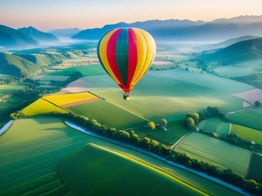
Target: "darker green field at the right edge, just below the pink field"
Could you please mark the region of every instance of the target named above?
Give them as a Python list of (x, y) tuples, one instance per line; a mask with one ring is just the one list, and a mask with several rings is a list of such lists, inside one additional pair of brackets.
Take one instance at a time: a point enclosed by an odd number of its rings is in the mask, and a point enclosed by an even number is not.
[(230, 123), (240, 124), (248, 126), (256, 130), (262, 131), (262, 113), (247, 109), (244, 111), (228, 114), (228, 120)]

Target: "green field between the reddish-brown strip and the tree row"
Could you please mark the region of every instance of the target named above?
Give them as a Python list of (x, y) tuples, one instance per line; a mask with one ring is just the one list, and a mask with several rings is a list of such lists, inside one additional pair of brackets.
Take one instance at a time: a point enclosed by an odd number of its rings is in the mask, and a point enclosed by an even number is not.
[(107, 101), (94, 101), (68, 107), (74, 113), (96, 119), (97, 122), (116, 129), (146, 125), (147, 121)]

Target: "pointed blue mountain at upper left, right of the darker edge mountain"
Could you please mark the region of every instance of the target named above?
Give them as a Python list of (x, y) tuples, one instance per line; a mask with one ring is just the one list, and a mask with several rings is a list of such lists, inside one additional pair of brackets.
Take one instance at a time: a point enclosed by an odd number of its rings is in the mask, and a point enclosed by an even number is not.
[(34, 27), (23, 27), (23, 28), (18, 28), (18, 31), (21, 31), (25, 34), (27, 34), (29, 37), (39, 41), (39, 42), (53, 42), (53, 41), (59, 41), (56, 36), (50, 34), (50, 33), (44, 33), (42, 31), (37, 30)]

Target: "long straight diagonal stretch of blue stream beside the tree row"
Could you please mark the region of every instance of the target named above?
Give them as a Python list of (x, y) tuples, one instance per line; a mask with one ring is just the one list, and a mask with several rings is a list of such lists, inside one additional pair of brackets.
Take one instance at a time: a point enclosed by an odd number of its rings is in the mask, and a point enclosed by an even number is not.
[(127, 147), (129, 147), (129, 148), (133, 148), (133, 149), (135, 149), (135, 150), (138, 150), (138, 151), (140, 151), (140, 152), (144, 152), (144, 153), (150, 154), (151, 156), (156, 157), (156, 158), (158, 158), (158, 159), (161, 159), (161, 160), (163, 160), (163, 161), (165, 161), (165, 162), (167, 162), (167, 163), (169, 163), (169, 164), (171, 164), (171, 165), (174, 165), (174, 166), (177, 166), (177, 167), (179, 167), (179, 168), (182, 168), (182, 169), (188, 170), (188, 171), (190, 171), (190, 172), (193, 172), (194, 174), (197, 174), (197, 175), (199, 175), (199, 176), (202, 176), (202, 177), (204, 177), (204, 178), (207, 178), (207, 179), (209, 179), (209, 180), (212, 180), (212, 181), (214, 181), (214, 182), (217, 182), (217, 183), (219, 183), (219, 184), (221, 184), (221, 185), (223, 185), (223, 186), (226, 186), (226, 187), (228, 187), (228, 188), (231, 188), (231, 189), (233, 189), (234, 191), (237, 191), (237, 192), (239, 192), (239, 193), (242, 193), (243, 195), (253, 196), (252, 194), (243, 191), (241, 188), (235, 187), (235, 186), (233, 186), (233, 185), (231, 185), (231, 184), (229, 184), (229, 183), (227, 183), (227, 182), (224, 182), (224, 181), (222, 181), (222, 180), (220, 180), (220, 179), (218, 179), (218, 178), (209, 176), (209, 175), (207, 175), (207, 174), (205, 174), (205, 173), (203, 173), (203, 172), (196, 171), (196, 170), (194, 170), (194, 169), (187, 168), (187, 167), (185, 167), (184, 165), (180, 165), (180, 164), (171, 162), (171, 161), (169, 161), (169, 160), (166, 160), (164, 157), (161, 157), (161, 156), (159, 156), (159, 155), (157, 155), (157, 154), (155, 154), (155, 153), (146, 151), (146, 150), (143, 149), (143, 148), (139, 148), (139, 147), (133, 146), (133, 145), (131, 145), (131, 144), (129, 144), (129, 143), (125, 143), (125, 142), (122, 142), (122, 141), (114, 140), (114, 139), (111, 139), (111, 138), (108, 138), (108, 137), (104, 137), (104, 136), (102, 136), (102, 135), (96, 134), (95, 132), (92, 132), (92, 131), (89, 131), (89, 130), (87, 130), (87, 129), (84, 129), (84, 128), (78, 126), (78, 125), (75, 125), (75, 124), (73, 124), (73, 123), (69, 123), (68, 121), (65, 121), (65, 123), (66, 123), (68, 126), (74, 128), (74, 129), (77, 129), (77, 130), (79, 130), (79, 131), (82, 131), (82, 132), (84, 132), (84, 133), (86, 133), (86, 134), (89, 134), (89, 135), (92, 135), (92, 136), (95, 136), (95, 137), (99, 137), (99, 138), (101, 138), (101, 139), (105, 139), (105, 140), (108, 140), (108, 141), (111, 141), (111, 142), (114, 142), (114, 143), (118, 143), (118, 144), (120, 144), (120, 145), (127, 146)]

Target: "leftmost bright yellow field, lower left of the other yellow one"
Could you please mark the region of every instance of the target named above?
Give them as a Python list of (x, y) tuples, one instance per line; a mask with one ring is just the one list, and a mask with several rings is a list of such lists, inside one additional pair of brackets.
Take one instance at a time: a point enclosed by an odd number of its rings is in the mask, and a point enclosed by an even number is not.
[(49, 103), (46, 100), (38, 99), (34, 103), (31, 103), (29, 106), (25, 107), (22, 112), (26, 116), (33, 116), (39, 114), (45, 114), (50, 112), (60, 112), (60, 113), (68, 113), (66, 110), (59, 108), (52, 103)]

